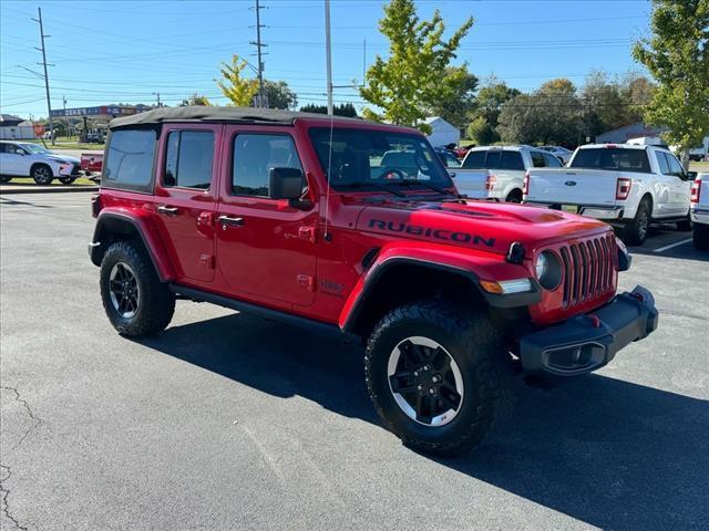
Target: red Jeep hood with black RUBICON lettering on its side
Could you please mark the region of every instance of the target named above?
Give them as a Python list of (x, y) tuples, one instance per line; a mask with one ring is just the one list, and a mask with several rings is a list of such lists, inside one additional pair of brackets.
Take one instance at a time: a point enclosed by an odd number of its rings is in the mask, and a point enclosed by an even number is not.
[(501, 254), (515, 241), (531, 253), (554, 240), (609, 230), (606, 223), (559, 210), (490, 201), (369, 206), (357, 229)]

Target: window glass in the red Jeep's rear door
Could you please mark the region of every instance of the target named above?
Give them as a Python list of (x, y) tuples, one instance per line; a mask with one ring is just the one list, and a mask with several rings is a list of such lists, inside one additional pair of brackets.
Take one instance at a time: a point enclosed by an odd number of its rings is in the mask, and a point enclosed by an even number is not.
[(172, 131), (167, 137), (163, 185), (206, 190), (212, 184), (213, 162), (213, 132)]

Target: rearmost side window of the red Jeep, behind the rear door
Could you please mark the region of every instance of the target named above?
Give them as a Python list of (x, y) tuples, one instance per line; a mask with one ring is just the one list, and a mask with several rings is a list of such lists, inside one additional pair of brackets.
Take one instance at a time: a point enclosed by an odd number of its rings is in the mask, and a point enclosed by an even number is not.
[(150, 190), (156, 135), (151, 129), (114, 131), (109, 144), (103, 185)]

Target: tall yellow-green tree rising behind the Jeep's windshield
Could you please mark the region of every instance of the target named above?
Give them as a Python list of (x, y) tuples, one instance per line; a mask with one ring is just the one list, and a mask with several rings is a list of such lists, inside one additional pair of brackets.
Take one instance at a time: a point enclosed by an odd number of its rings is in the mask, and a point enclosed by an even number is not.
[(413, 0), (391, 0), (384, 6), (379, 31), (389, 40), (389, 56), (377, 55), (360, 88), (361, 96), (381, 112), (366, 107), (364, 117), (428, 133), (423, 119), (431, 106), (460, 86), (460, 71), (446, 67), (472, 25), (471, 17), (444, 41), (445, 25), (438, 10), (428, 21), (419, 19)]

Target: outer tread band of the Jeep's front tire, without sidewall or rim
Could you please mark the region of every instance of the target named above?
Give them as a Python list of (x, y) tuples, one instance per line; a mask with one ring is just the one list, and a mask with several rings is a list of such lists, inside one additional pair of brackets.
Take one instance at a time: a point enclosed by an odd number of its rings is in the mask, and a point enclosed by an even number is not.
[[(480, 383), (480, 396), (482, 397), (476, 408), (476, 420), (456, 440), (439, 444), (402, 437), (402, 441), (414, 449), (443, 457), (459, 456), (474, 449), (485, 435), (497, 425), (499, 420), (506, 417), (513, 404), (512, 365), (501, 356), (505, 348), (497, 332), (484, 315), (445, 300), (436, 299), (405, 304), (384, 315), (367, 342), (364, 372), (369, 396), (379, 417), (389, 430), (393, 430), (393, 427), (380, 405), (370, 377), (372, 352), (382, 333), (401, 320), (421, 320), (433, 323), (455, 335), (460, 344), (465, 345), (470, 352), (476, 350), (480, 353), (477, 363), (467, 368), (474, 372), (475, 381)], [(481, 345), (484, 347), (481, 348)]]

